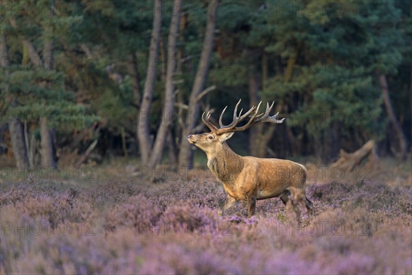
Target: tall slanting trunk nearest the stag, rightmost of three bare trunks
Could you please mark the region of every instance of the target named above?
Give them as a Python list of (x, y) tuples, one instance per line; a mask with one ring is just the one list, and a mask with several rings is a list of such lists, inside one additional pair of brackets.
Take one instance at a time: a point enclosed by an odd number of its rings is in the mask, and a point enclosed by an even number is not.
[(201, 53), (201, 61), (203, 63), (199, 63), (198, 69), (196, 72), (196, 77), (194, 78), (194, 84), (192, 87), (192, 91), (190, 93), (189, 99), (189, 109), (187, 111), (187, 118), (186, 124), (183, 126), (182, 135), (181, 135), (181, 144), (180, 144), (180, 151), (179, 151), (179, 165), (181, 167), (190, 167), (189, 164), (192, 162), (190, 161), (190, 144), (187, 142), (187, 135), (189, 135), (194, 127), (196, 126), (196, 122), (198, 121), (198, 112), (199, 112), (199, 104), (198, 104), (198, 95), (201, 94), (203, 91), (207, 72), (209, 70), (209, 61), (211, 51), (213, 50), (213, 40), (214, 40), (214, 31), (216, 28), (216, 13), (218, 8), (218, 0), (211, 0), (209, 2), (209, 6), (207, 7), (207, 23), (206, 23), (206, 30), (205, 30), (205, 39), (203, 40), (203, 49)]

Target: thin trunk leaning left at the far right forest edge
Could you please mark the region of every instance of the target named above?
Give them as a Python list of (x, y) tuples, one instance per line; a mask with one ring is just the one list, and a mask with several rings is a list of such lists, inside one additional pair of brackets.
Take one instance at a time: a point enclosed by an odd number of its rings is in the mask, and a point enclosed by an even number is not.
[(393, 124), (393, 128), (395, 129), (396, 136), (398, 137), (399, 148), (400, 148), (400, 158), (405, 160), (407, 158), (407, 140), (404, 136), (402, 131), (402, 127), (400, 126), (398, 119), (396, 118), (395, 111), (393, 111), (391, 98), (389, 97), (389, 88), (387, 84), (387, 79), (385, 74), (379, 75), (379, 84), (380, 89), (382, 89), (383, 101), (385, 102), (385, 107), (387, 113), (389, 115), (389, 120)]

